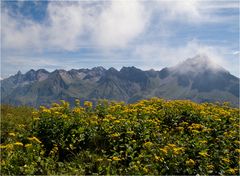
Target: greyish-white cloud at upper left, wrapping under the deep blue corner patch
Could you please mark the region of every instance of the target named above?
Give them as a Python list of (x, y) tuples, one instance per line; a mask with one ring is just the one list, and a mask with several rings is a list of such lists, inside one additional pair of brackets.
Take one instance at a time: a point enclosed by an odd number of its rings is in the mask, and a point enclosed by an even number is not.
[(78, 4), (52, 2), (43, 23), (21, 15), (12, 17), (3, 10), (2, 26), (4, 48), (74, 50), (83, 30), (82, 10)]

